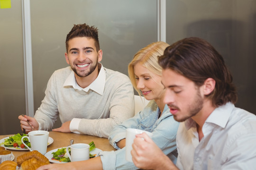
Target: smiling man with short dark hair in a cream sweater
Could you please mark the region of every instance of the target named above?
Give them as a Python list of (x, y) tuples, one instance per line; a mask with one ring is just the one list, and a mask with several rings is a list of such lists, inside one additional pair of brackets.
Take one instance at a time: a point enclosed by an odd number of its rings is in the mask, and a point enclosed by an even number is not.
[(21, 128), (52, 129), (59, 115), (60, 132), (108, 137), (112, 128), (134, 115), (134, 92), (128, 76), (104, 68), (98, 29), (74, 25), (66, 36), (66, 62), (70, 67), (51, 76), (46, 96), (34, 118), (19, 116)]

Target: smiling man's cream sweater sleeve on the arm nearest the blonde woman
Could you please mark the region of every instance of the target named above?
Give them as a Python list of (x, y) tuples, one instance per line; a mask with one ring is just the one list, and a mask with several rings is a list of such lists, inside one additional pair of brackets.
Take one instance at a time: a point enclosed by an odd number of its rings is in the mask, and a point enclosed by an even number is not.
[(79, 132), (92, 136), (109, 137), (115, 125), (134, 115), (133, 86), (127, 76), (117, 76), (106, 81), (105, 90), (110, 90), (110, 116), (106, 119), (81, 119)]

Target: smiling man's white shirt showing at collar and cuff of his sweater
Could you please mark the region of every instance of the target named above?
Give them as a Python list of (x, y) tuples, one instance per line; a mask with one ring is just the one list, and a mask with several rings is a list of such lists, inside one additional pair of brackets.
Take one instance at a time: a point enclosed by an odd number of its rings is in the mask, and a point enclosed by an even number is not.
[[(100, 69), (100, 72), (99, 72), (99, 75), (97, 76), (97, 78), (89, 86), (87, 86), (85, 88), (82, 88), (77, 84), (74, 74), (75, 73), (73, 71), (70, 73), (70, 75), (67, 77), (63, 86), (71, 85), (71, 86), (73, 86), (74, 89), (77, 89), (77, 90), (83, 90), (85, 92), (88, 92), (91, 89), (94, 92), (99, 93), (100, 95), (103, 94), (104, 87), (105, 87), (105, 80), (106, 80), (106, 71), (102, 65), (101, 65), (101, 69)], [(81, 121), (81, 119), (79, 119), (79, 118), (73, 118), (71, 120), (71, 123), (69, 126), (71, 132), (78, 133), (78, 134), (80, 133), (80, 132), (78, 132), (78, 127), (79, 127), (80, 121)]]

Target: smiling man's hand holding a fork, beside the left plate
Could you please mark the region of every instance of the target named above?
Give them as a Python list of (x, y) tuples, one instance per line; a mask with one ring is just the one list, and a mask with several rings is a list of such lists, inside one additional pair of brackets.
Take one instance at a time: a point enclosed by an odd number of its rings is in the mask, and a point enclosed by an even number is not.
[(27, 121), (34, 128), (34, 130), (38, 130), (39, 128), (39, 124), (35, 118), (29, 117), (27, 115), (24, 115), (24, 117), (19, 115), (18, 119), (20, 119), (21, 130), (23, 130), (23, 128), (26, 129), (26, 133), (32, 131), (32, 128), (27, 124)]

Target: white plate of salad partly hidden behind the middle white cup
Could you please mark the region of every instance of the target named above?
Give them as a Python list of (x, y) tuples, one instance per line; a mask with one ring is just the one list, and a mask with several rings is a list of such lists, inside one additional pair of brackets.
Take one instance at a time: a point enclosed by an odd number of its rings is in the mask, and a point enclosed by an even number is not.
[[(95, 147), (94, 142), (90, 144), (90, 158), (94, 158), (99, 155), (101, 149)], [(70, 151), (70, 148), (69, 148)], [(67, 163), (70, 162), (69, 157), (66, 154), (66, 147), (57, 148), (51, 150), (45, 154), (46, 158), (52, 163)]]

